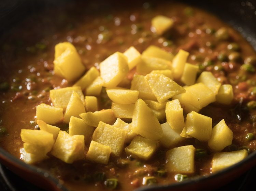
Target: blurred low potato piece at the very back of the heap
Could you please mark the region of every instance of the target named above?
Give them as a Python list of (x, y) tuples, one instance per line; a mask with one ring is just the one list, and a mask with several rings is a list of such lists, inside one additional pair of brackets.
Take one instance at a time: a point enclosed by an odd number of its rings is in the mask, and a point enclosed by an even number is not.
[(142, 52), (142, 56), (162, 58), (169, 61), (172, 61), (174, 57), (173, 54), (154, 45), (147, 47), (146, 50)]

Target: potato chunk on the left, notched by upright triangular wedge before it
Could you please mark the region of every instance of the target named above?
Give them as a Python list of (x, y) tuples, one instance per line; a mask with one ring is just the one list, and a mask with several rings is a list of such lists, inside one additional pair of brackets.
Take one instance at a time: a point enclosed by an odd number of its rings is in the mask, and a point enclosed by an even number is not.
[(55, 107), (61, 107), (63, 109), (66, 109), (73, 91), (79, 95), (82, 102), (84, 103), (84, 94), (81, 90), (81, 87), (77, 86), (50, 90), (50, 98), (53, 102), (53, 105)]

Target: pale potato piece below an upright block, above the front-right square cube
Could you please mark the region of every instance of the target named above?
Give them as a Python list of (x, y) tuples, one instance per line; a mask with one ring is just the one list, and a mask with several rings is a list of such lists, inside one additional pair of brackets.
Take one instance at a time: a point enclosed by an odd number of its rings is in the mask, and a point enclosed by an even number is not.
[(159, 142), (162, 146), (169, 148), (184, 140), (180, 133), (172, 129), (167, 122), (161, 124), (161, 127), (163, 129), (163, 136), (159, 139)]

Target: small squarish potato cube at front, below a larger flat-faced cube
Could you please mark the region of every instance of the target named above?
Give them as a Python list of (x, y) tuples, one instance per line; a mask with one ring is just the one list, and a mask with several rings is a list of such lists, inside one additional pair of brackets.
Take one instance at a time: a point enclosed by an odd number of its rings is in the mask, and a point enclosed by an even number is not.
[(100, 164), (108, 164), (110, 153), (110, 146), (91, 141), (86, 159)]

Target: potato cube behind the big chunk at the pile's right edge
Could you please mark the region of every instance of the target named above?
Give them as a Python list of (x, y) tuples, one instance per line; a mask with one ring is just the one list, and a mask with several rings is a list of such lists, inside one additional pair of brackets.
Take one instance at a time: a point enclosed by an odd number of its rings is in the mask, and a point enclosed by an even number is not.
[(216, 77), (214, 77), (212, 72), (202, 72), (197, 79), (197, 83), (200, 82), (207, 86), (210, 90), (212, 90), (215, 95), (218, 94), (221, 83), (216, 79)]

